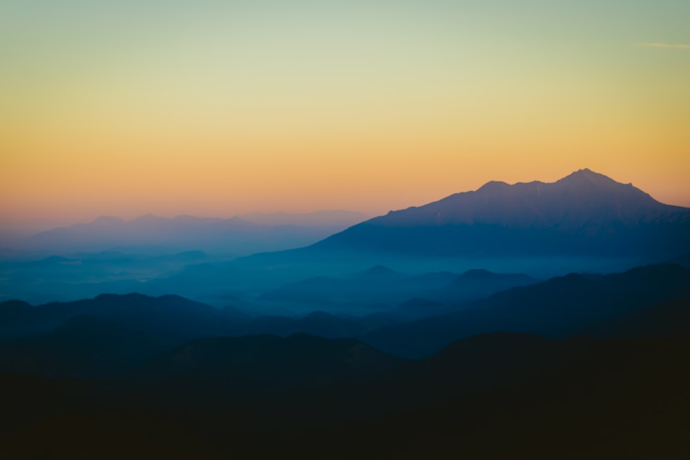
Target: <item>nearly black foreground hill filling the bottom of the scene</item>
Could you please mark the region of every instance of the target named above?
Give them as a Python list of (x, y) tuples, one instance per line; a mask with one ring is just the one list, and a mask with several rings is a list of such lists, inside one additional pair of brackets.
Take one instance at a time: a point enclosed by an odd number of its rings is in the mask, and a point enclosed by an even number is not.
[[(319, 339), (259, 336), (244, 349), (235, 343), (229, 350), (223, 350), (228, 343), (217, 343), (192, 366), (144, 383), (0, 374), (0, 450), (5, 458), (27, 459), (690, 454), (687, 336), (484, 334), (421, 361), (381, 359), (382, 373), (358, 369), (362, 357), (352, 359), (353, 346), (385, 357), (361, 343), (322, 342), (315, 351), (301, 341)], [(281, 342), (287, 361), (273, 345)], [(180, 358), (188, 363), (184, 350), (169, 354), (164, 367)], [(247, 364), (242, 356), (251, 350), (262, 350), (263, 357), (253, 372), (231, 372)], [(315, 352), (320, 359), (313, 361)], [(267, 376), (270, 390), (253, 386)], [(295, 386), (295, 379), (310, 384)]]

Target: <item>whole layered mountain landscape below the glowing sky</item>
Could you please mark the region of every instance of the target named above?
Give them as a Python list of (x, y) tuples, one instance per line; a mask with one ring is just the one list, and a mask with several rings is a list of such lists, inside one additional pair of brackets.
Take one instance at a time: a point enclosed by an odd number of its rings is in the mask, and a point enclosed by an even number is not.
[(337, 216), (37, 235), (86, 252), (0, 261), (0, 457), (689, 458), (689, 213), (580, 170), (239, 259)]

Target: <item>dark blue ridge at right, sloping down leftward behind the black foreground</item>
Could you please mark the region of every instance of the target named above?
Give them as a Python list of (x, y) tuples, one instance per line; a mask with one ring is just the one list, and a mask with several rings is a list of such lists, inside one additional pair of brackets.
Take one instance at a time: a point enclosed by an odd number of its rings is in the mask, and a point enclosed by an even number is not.
[(424, 357), (482, 332), (562, 337), (598, 321), (682, 299), (690, 299), (690, 270), (682, 266), (647, 266), (596, 278), (569, 274), (498, 292), (457, 312), (381, 328), (362, 339), (385, 352)]

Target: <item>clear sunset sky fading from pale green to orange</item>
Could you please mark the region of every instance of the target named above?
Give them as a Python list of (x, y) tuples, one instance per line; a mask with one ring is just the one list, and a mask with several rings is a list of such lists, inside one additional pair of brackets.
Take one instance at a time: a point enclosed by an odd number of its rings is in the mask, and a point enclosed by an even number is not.
[(690, 206), (687, 0), (0, 0), (0, 221), (347, 209), (580, 168)]

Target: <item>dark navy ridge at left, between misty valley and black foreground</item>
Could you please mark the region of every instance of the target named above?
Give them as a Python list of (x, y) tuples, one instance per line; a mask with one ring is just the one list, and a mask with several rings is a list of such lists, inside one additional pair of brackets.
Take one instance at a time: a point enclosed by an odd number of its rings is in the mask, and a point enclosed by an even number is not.
[(250, 318), (230, 306), (216, 309), (172, 295), (101, 294), (35, 307), (6, 301), (0, 303), (0, 372), (108, 377), (194, 339), (295, 333), (344, 338), (393, 323), (325, 312)]

